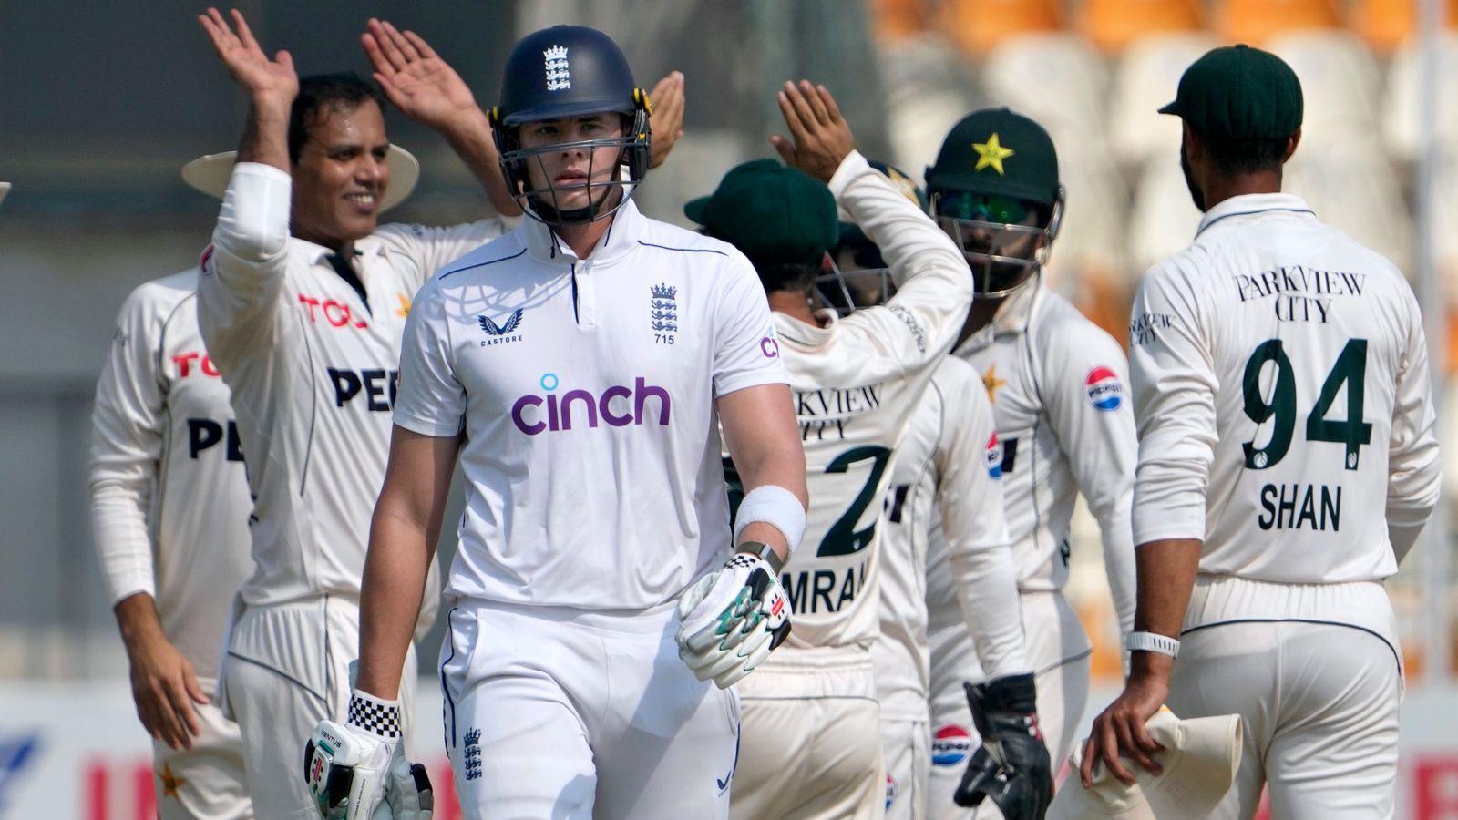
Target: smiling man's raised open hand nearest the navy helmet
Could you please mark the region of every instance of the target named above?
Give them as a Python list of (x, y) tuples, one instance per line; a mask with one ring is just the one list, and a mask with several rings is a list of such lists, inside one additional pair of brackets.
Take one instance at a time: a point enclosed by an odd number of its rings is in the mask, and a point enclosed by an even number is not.
[(480, 115), (465, 80), (420, 35), (375, 18), (366, 28), (360, 44), (375, 67), (375, 80), (395, 108), (436, 130)]

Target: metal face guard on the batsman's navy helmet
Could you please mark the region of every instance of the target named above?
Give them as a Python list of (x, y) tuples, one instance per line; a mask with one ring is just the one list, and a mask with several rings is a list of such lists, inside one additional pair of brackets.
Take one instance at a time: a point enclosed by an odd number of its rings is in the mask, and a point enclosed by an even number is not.
[[(628, 201), (637, 184), (643, 181), (650, 158), (647, 95), (642, 89), (633, 90), (634, 96), (642, 101), (642, 105), (631, 114), (623, 115), (624, 134), (618, 137), (521, 147), (522, 125), (503, 125), (493, 111), (491, 133), (502, 158), (502, 175), (506, 179), (507, 191), (522, 204), (522, 210), (528, 216), (554, 228), (582, 225), (612, 216)], [(615, 149), (617, 153), (609, 160), (612, 163), (609, 177), (599, 179), (598, 150), (604, 147)], [(580, 185), (554, 184), (545, 172), (542, 156), (576, 150), (588, 153), (588, 179)], [(529, 172), (532, 163), (541, 171), (541, 177), (545, 179), (544, 187), (532, 185)], [(564, 194), (582, 188), (588, 191), (586, 206), (576, 209), (560, 207)], [(609, 200), (614, 200), (614, 190), (620, 191), (621, 196), (608, 206)]]

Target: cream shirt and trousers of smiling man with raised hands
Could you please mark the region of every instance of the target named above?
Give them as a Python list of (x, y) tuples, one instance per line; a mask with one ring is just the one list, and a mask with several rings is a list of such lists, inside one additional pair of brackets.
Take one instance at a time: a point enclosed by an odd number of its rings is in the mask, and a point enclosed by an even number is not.
[(405, 315), (433, 271), (500, 222), (382, 226), (354, 244), (366, 301), (327, 248), (289, 235), (290, 191), (280, 169), (233, 168), (203, 254), (198, 322), (232, 388), (255, 499), (257, 568), (230, 633), (225, 705), (243, 730), (258, 814), (303, 819), (316, 808), (297, 776), (299, 750), (318, 721), (344, 718), (346, 670), (359, 652)]

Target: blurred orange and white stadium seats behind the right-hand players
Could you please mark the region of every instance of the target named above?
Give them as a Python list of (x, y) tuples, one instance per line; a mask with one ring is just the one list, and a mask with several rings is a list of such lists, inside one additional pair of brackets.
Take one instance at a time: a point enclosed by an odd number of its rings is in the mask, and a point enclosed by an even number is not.
[[(1446, 293), (1436, 309), (1449, 330), (1430, 344), (1446, 346), (1439, 398), (1458, 398), (1458, 1), (1438, 1), (1445, 23), (1436, 36), (1439, 102), (1430, 112), (1438, 152), (1426, 181), (1435, 197), (1430, 260)], [(1126, 347), (1139, 277), (1184, 248), (1201, 216), (1180, 168), (1181, 121), (1156, 109), (1174, 99), (1184, 69), (1217, 45), (1258, 45), (1295, 69), (1305, 123), (1284, 188), (1394, 260), (1416, 286), (1424, 181), (1420, 3), (870, 0), (869, 9), (894, 162), (920, 177), (972, 108), (1007, 105), (1042, 123), (1067, 188), (1048, 282)], [(1452, 489), (1458, 426), (1443, 423), (1442, 432), (1454, 433), (1441, 435)], [(1112, 680), (1120, 674), (1117, 626), (1098, 528), (1082, 506), (1075, 535), (1069, 597), (1095, 638), (1095, 674)], [(1423, 557), (1411, 556), (1389, 582), (1410, 678), (1423, 677), (1433, 629)]]

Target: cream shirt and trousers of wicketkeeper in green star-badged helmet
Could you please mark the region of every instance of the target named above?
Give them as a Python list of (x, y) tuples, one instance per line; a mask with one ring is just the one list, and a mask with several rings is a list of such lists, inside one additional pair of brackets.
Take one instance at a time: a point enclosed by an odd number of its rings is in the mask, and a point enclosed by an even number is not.
[[(1137, 445), (1124, 353), (1034, 279), (1007, 296), (956, 355), (977, 368), (993, 403), (1028, 662), (1038, 676), (1038, 722), (1048, 753), (1063, 760), (1089, 689), (1088, 633), (1063, 597), (1077, 493), (1099, 522), (1120, 624), (1127, 630), (1134, 622), (1128, 506)], [(986, 677), (940, 560), (936, 552), (927, 560), (936, 791), (961, 778), (964, 738), (977, 743), (962, 683)], [(951, 801), (933, 810), (942, 817), (971, 816)]]

